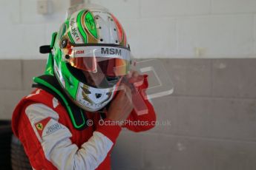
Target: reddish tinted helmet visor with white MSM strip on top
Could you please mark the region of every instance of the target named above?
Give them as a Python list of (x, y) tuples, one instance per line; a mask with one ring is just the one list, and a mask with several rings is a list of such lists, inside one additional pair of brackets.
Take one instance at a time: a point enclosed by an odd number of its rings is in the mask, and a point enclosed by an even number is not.
[(128, 73), (131, 54), (130, 50), (124, 47), (71, 46), (70, 50), (65, 52), (65, 61), (77, 69), (117, 77)]

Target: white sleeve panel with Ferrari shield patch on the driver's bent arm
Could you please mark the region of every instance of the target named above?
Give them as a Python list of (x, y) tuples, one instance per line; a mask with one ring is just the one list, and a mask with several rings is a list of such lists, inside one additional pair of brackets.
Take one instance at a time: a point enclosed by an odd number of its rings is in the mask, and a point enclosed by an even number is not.
[[(59, 115), (42, 103), (25, 109), (45, 157), (57, 169), (96, 169), (114, 143), (100, 132), (93, 132), (88, 142), (79, 149), (70, 140), (69, 129), (59, 123)], [(41, 130), (41, 131), (40, 131)]]

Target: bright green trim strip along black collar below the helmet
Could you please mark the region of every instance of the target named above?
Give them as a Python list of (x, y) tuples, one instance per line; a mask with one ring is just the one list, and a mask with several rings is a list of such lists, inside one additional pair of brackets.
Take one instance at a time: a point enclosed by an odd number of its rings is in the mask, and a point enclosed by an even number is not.
[[(82, 123), (81, 125), (77, 125), (77, 124), (76, 124), (76, 120), (75, 120), (75, 118), (73, 118), (73, 114), (72, 114), (72, 111), (71, 111), (70, 106), (69, 106), (69, 104), (68, 104), (68, 101), (67, 101), (67, 100), (65, 99), (65, 97), (62, 95), (62, 93), (59, 92), (58, 89), (56, 89), (54, 86), (52, 86), (52, 85), (50, 85), (49, 83), (47, 83), (47, 81), (42, 80), (41, 78), (35, 77), (35, 78), (33, 78), (33, 81), (34, 81), (35, 83), (43, 84), (43, 85), (49, 87), (49, 88), (52, 89), (54, 92), (56, 92), (56, 94), (58, 94), (60, 98), (62, 98), (62, 101), (65, 103), (65, 106), (67, 106), (68, 114), (70, 115), (70, 118), (71, 118), (71, 121), (72, 121), (72, 123), (73, 123), (73, 126), (75, 126), (77, 129), (79, 129), (79, 128), (81, 128), (82, 126), (85, 125), (85, 118), (84, 118), (84, 115), (83, 115), (83, 114), (81, 114), (81, 115), (82, 115), (83, 123)], [(80, 110), (80, 111), (81, 111), (81, 110)]]

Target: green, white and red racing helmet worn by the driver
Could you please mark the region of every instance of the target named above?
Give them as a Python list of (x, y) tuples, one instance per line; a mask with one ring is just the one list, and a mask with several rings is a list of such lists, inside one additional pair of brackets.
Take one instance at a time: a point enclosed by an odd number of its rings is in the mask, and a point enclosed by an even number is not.
[[(104, 7), (71, 7), (53, 45), (53, 70), (68, 97), (82, 109), (95, 112), (116, 93), (131, 64), (130, 47), (122, 25)], [(89, 84), (90, 75), (104, 75)], [(95, 77), (94, 77), (95, 78)]]

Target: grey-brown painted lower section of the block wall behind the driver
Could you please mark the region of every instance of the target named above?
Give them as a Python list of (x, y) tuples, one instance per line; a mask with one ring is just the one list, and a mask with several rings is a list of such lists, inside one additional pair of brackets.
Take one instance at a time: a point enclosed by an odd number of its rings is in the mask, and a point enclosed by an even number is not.
[[(256, 169), (256, 59), (163, 59), (174, 94), (154, 99), (157, 126), (123, 130), (114, 169)], [(30, 92), (45, 61), (0, 62), (0, 118)]]

